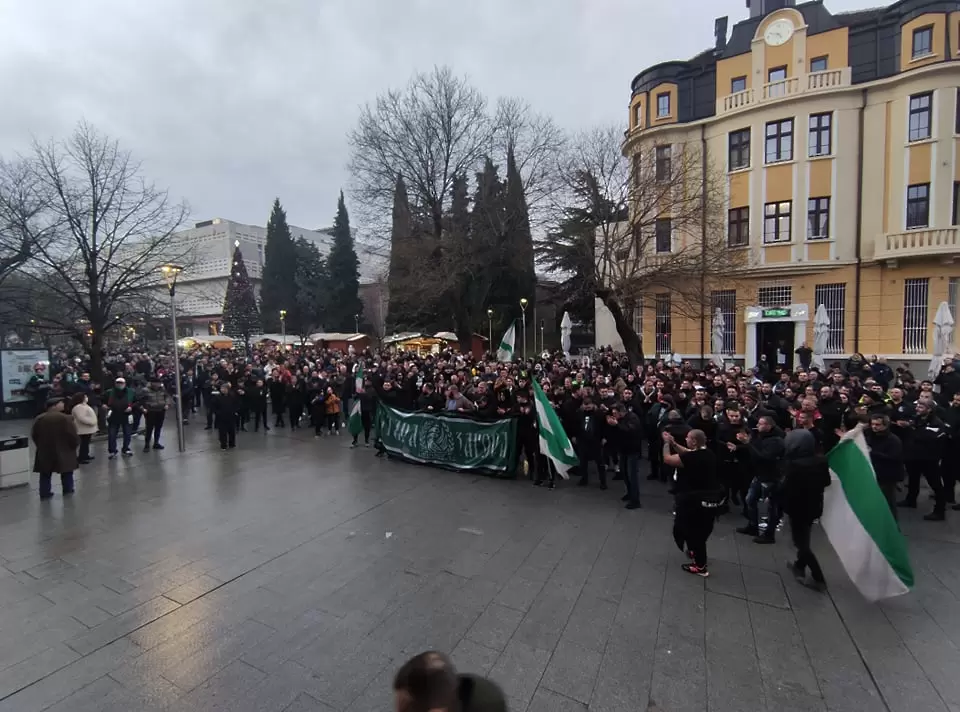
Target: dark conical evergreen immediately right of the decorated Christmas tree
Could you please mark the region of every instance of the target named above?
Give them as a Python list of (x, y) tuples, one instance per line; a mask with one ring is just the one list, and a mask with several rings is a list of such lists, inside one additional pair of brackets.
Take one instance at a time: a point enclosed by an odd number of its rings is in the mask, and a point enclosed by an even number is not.
[(277, 198), (273, 201), (273, 210), (267, 223), (263, 282), (260, 285), (260, 312), (265, 332), (279, 332), (280, 311), (294, 308), (297, 298), (296, 270), (297, 248), (287, 225), (287, 213)]

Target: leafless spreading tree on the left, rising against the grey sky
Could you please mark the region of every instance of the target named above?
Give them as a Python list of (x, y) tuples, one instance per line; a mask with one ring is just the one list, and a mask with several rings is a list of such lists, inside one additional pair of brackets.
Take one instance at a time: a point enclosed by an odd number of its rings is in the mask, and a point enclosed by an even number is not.
[[(99, 374), (106, 332), (143, 313), (144, 294), (157, 291), (163, 264), (192, 262), (189, 247), (171, 253), (187, 208), (86, 123), (65, 141), (35, 143), (26, 162), (29, 198), (39, 208), (24, 228), (35, 247), (22, 270), (21, 308), (39, 326), (81, 342)], [(38, 309), (36, 294), (52, 295), (59, 308)]]

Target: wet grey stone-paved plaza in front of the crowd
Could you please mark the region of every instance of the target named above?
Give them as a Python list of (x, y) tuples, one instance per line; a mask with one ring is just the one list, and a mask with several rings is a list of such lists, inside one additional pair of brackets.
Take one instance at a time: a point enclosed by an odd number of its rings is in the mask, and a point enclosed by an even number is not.
[[(5, 427), (9, 432), (9, 426)], [(241, 433), (108, 462), (72, 499), (0, 493), (0, 712), (388, 712), (426, 648), (511, 710), (960, 710), (960, 514), (909, 512), (917, 590), (830, 595), (787, 540), (724, 518), (689, 576), (658, 484), (608, 492), (379, 460), (349, 439)], [(58, 489), (58, 488), (57, 488)]]

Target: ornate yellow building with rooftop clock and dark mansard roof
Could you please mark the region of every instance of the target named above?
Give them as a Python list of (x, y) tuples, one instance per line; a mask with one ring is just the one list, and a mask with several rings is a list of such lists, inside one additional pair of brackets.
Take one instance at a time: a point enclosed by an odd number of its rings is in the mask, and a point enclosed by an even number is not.
[[(934, 313), (956, 315), (960, 289), (960, 5), (747, 5), (729, 41), (720, 18), (713, 49), (637, 75), (624, 143), (632, 156), (697, 142), (725, 173), (727, 244), (748, 253), (750, 279), (716, 290), (706, 321), (721, 310), (729, 358), (774, 361), (779, 347), (792, 363), (823, 304), (828, 362), (929, 362)], [(648, 354), (710, 354), (709, 323), (666, 294), (643, 305)], [(596, 327), (598, 345), (618, 342), (599, 303)]]

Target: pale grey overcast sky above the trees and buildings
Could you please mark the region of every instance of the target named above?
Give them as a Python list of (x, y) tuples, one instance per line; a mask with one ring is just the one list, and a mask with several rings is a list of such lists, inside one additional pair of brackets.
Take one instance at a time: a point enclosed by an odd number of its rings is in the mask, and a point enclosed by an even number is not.
[[(872, 3), (874, 5), (877, 2)], [(358, 107), (447, 64), (566, 129), (626, 122), (630, 80), (744, 0), (0, 0), (0, 152), (85, 118), (192, 219), (332, 223)], [(834, 11), (870, 0), (827, 0)], [(349, 200), (349, 195), (348, 195)], [(349, 207), (349, 205), (348, 205)]]

